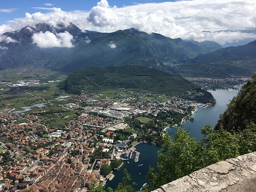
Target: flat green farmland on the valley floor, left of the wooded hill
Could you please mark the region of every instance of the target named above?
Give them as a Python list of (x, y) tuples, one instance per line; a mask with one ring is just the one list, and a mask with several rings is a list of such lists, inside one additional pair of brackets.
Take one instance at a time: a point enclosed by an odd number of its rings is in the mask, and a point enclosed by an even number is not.
[[(21, 70), (22, 71), (22, 70)], [(57, 100), (63, 93), (57, 88), (58, 81), (67, 75), (49, 71), (18, 73), (16, 70), (0, 71), (0, 110), (13, 109), (23, 111), (24, 108), (45, 103), (45, 105), (63, 105), (66, 102)], [(12, 87), (7, 82), (35, 80), (40, 84), (32, 86)], [(71, 95), (73, 96), (73, 95)]]

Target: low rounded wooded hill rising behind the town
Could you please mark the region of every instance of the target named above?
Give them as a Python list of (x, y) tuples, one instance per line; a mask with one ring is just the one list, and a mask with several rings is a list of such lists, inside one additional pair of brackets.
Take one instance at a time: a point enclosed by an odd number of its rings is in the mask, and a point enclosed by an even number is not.
[(211, 93), (185, 78), (138, 65), (89, 67), (70, 73), (67, 80), (60, 84), (60, 89), (75, 94), (119, 88), (214, 103)]

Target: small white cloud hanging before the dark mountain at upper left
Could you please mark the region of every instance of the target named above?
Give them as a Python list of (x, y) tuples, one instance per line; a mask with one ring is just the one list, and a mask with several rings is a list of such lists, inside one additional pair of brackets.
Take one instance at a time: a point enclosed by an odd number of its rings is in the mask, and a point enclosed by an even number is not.
[(56, 35), (51, 32), (35, 33), (32, 36), (33, 43), (36, 43), (40, 48), (72, 48), (73, 36), (68, 33), (57, 33)]

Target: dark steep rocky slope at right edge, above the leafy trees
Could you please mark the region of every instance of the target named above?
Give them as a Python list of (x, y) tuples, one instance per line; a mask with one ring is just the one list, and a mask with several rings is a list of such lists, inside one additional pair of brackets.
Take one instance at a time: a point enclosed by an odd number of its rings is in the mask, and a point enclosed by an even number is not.
[(256, 123), (256, 80), (248, 81), (221, 115), (215, 129), (227, 131), (243, 130), (251, 122)]

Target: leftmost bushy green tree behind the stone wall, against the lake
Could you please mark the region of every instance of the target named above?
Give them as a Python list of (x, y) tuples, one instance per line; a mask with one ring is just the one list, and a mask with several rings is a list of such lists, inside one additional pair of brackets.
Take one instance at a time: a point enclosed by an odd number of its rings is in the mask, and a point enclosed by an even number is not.
[(151, 189), (190, 174), (198, 168), (198, 150), (200, 148), (188, 131), (179, 129), (175, 139), (164, 134), (162, 149), (158, 154), (157, 168), (149, 168), (147, 179)]

